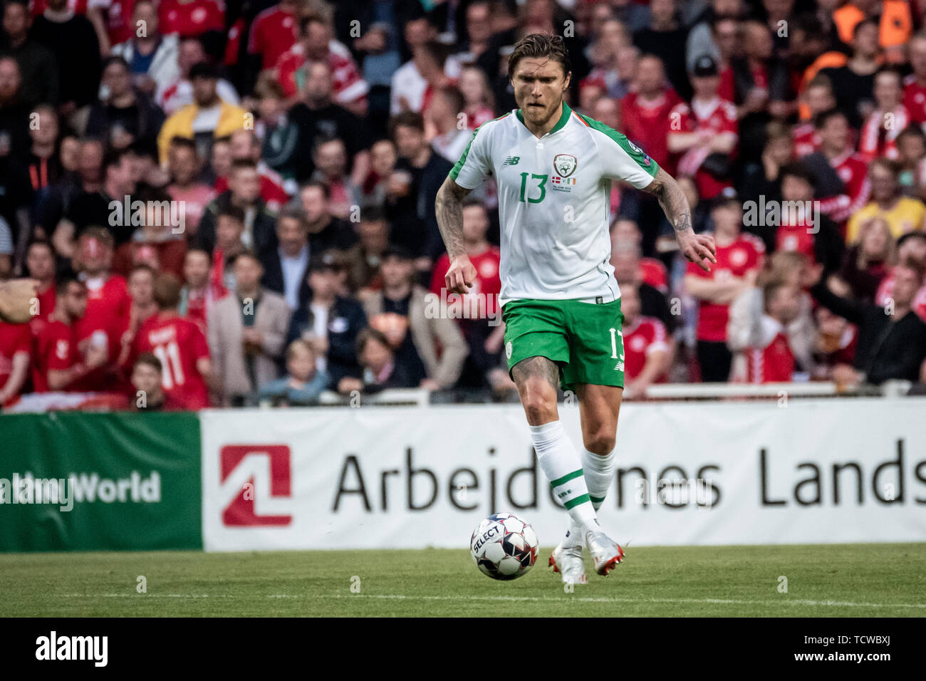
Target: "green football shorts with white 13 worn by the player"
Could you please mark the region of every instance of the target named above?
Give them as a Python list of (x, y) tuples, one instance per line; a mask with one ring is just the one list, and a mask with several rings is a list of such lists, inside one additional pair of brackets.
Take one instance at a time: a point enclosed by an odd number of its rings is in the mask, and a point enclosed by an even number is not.
[(521, 359), (557, 362), (563, 390), (576, 384), (624, 386), (620, 300), (512, 300), (502, 309), (508, 374)]

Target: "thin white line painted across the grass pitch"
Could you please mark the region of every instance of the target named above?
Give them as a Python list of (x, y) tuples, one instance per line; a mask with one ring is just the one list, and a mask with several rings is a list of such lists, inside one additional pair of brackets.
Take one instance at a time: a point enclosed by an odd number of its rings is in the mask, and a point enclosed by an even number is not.
[[(231, 594), (59, 594), (61, 598), (109, 598), (109, 599), (241, 599), (247, 596)], [(740, 599), (621, 599), (607, 597), (569, 596), (409, 596), (407, 594), (255, 594), (250, 598), (267, 599), (381, 599), (381, 600), (489, 600), (508, 602), (567, 602), (574, 603), (686, 603), (694, 605), (809, 605), (828, 608), (914, 608), (926, 609), (926, 603), (854, 603), (842, 600), (740, 600)]]

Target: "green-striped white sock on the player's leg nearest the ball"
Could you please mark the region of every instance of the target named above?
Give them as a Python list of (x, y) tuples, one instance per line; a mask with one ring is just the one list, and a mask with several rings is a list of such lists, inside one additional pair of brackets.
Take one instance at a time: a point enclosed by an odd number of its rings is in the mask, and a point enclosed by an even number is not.
[(540, 467), (553, 487), (554, 496), (569, 511), (569, 518), (583, 528), (582, 536), (585, 528), (597, 530), (598, 521), (585, 486), (581, 460), (562, 422), (532, 425), (531, 438)]

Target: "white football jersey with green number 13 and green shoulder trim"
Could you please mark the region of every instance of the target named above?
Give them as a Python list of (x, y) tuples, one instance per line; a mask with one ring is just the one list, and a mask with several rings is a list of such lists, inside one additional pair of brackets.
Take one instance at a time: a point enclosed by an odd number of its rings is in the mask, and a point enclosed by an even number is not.
[(511, 300), (611, 302), (620, 297), (611, 258), (610, 188), (653, 181), (652, 158), (604, 123), (563, 102), (556, 126), (537, 138), (520, 109), (482, 124), (450, 177), (475, 189), (498, 184), (501, 305)]

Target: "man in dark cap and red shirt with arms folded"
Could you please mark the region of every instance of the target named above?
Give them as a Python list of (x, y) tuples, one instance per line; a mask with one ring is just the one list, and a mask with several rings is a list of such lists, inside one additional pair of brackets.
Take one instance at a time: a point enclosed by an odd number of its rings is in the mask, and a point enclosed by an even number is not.
[(718, 95), (720, 77), (714, 59), (698, 57), (691, 76), (691, 104), (679, 104), (669, 113), (669, 151), (679, 155), (679, 173), (694, 177), (701, 198), (711, 199), (732, 186), (730, 166), (739, 125), (736, 107)]

